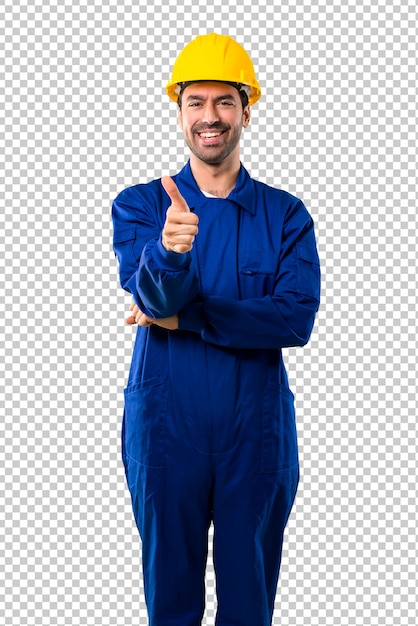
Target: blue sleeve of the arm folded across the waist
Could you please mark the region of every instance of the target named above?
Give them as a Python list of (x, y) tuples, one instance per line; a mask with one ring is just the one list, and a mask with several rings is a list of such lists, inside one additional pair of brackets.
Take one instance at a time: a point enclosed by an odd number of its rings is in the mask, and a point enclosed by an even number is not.
[(273, 293), (234, 300), (208, 297), (180, 313), (180, 329), (227, 348), (285, 348), (305, 345), (320, 300), (320, 267), (314, 224), (302, 202), (283, 226)]

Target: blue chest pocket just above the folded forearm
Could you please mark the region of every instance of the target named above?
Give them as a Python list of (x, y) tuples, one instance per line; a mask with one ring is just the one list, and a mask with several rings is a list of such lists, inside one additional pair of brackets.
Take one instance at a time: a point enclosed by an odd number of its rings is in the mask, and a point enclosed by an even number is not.
[(263, 298), (274, 290), (277, 266), (274, 256), (268, 257), (265, 250), (248, 251), (239, 262), (239, 282), (241, 299)]

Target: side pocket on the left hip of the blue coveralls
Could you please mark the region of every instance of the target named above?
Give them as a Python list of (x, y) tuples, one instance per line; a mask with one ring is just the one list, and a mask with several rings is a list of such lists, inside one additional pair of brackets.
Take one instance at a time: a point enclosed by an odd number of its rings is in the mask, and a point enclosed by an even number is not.
[(166, 417), (167, 387), (161, 378), (129, 385), (125, 389), (125, 457), (146, 467), (164, 467)]

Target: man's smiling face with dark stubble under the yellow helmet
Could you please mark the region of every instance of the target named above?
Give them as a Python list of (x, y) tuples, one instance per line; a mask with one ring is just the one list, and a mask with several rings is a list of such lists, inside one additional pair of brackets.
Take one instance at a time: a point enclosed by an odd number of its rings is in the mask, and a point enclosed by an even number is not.
[(250, 107), (243, 109), (235, 87), (192, 83), (184, 89), (181, 103), (178, 121), (194, 157), (211, 165), (239, 160), (239, 140), (250, 122)]

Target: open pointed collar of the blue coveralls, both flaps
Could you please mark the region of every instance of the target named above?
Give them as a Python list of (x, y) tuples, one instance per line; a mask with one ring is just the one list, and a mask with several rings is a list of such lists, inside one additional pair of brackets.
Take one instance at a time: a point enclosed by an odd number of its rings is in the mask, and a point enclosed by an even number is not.
[[(184, 192), (189, 203), (197, 205), (202, 199), (206, 199), (200, 191), (192, 174), (190, 161), (186, 163), (182, 170), (175, 176), (176, 184), (180, 192)], [(221, 199), (221, 198), (220, 198)], [(255, 189), (254, 181), (241, 163), (237, 183), (229, 196), (225, 198), (230, 202), (238, 204), (249, 213), (255, 213)]]

